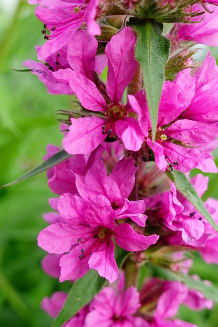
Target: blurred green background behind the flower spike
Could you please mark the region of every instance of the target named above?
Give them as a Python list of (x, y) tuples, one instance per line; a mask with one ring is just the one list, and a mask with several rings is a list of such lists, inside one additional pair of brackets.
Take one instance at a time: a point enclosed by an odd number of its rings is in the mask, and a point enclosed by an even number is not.
[[(43, 44), (42, 25), (26, 0), (0, 1), (0, 185), (39, 165), (48, 143), (61, 145), (55, 112), (69, 107), (68, 97), (51, 96), (36, 76), (12, 71), (24, 69), (24, 60), (36, 60), (35, 45)], [(205, 198), (217, 197), (217, 176), (209, 175)], [(50, 326), (41, 299), (69, 289), (67, 282), (59, 284), (40, 267), (44, 251), (37, 247), (37, 236), (46, 226), (41, 216), (51, 210), (51, 196), (45, 173), (0, 190), (1, 327)], [(218, 286), (215, 265), (206, 265), (197, 255), (194, 269)], [(182, 307), (180, 318), (216, 327), (218, 306), (194, 313)]]

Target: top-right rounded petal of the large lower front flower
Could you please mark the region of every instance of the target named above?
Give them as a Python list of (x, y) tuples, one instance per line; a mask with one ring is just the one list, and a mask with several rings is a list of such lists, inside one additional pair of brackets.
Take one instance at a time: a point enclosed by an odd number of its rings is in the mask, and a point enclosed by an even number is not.
[(115, 226), (114, 211), (104, 195), (98, 195), (90, 202), (85, 219), (91, 227), (104, 226), (112, 229)]

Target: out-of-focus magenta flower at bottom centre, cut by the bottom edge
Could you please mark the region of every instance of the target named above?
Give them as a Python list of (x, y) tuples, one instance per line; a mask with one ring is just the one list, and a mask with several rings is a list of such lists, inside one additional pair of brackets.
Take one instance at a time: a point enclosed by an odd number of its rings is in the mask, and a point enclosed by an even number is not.
[(149, 327), (150, 324), (134, 316), (140, 308), (139, 293), (133, 286), (118, 295), (105, 287), (91, 302), (92, 309), (85, 318), (86, 327)]

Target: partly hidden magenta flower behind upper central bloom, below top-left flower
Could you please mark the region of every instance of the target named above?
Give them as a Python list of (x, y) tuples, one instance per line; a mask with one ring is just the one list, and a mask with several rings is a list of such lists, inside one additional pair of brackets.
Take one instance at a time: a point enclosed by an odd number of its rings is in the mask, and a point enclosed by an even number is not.
[[(98, 41), (95, 37), (88, 35), (87, 31), (77, 31), (67, 45), (45, 59), (49, 66), (32, 60), (24, 61), (23, 65), (31, 69), (33, 74), (38, 75), (49, 93), (71, 95), (74, 91), (69, 84), (57, 81), (52, 72), (61, 70), (62, 75), (65, 76), (64, 69), (71, 68), (93, 80), (94, 71), (101, 74), (107, 65), (105, 54), (95, 56), (97, 48)], [(39, 53), (41, 46), (36, 46), (36, 50)]]

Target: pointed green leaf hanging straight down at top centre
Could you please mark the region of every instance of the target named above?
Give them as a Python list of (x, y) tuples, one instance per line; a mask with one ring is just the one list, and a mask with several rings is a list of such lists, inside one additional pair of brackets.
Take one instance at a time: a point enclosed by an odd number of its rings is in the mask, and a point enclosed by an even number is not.
[(171, 42), (161, 35), (163, 24), (156, 21), (140, 21), (131, 18), (128, 25), (138, 34), (135, 57), (142, 68), (152, 123), (152, 141), (154, 142), (158, 107), (165, 80), (164, 67), (168, 60)]

